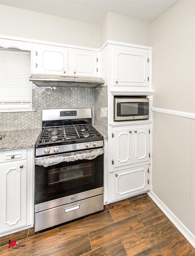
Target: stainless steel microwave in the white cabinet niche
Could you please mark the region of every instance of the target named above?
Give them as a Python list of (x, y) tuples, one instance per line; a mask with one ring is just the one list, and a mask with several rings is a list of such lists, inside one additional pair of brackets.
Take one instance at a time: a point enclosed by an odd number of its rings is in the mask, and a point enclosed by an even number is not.
[(149, 118), (149, 99), (114, 98), (114, 121)]

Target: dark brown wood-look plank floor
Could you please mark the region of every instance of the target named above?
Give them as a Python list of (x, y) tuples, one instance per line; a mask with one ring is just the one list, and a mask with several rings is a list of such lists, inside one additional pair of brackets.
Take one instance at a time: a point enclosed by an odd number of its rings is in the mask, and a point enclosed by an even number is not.
[[(9, 240), (25, 247), (9, 249)], [(35, 233), (31, 228), (3, 236), (1, 246), (1, 256), (195, 255), (195, 249), (146, 193), (47, 231)]]

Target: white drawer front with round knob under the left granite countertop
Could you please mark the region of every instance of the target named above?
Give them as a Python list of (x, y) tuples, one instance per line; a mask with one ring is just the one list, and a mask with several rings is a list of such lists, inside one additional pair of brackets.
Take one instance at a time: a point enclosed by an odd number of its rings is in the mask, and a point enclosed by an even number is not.
[(5, 151), (0, 153), (0, 163), (27, 159), (27, 149)]

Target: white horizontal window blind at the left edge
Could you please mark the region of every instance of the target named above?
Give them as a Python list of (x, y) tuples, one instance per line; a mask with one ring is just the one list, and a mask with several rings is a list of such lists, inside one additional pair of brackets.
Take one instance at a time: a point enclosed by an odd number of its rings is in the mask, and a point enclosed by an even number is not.
[(30, 51), (0, 48), (0, 110), (31, 110)]

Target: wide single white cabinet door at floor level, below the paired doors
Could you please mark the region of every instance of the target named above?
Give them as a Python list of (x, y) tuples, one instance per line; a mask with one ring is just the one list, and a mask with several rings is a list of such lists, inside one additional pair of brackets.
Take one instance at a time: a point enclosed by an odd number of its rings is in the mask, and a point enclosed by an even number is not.
[(113, 172), (112, 200), (148, 190), (148, 166), (141, 165)]

